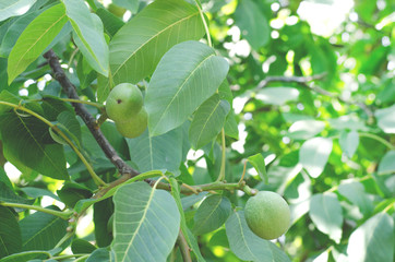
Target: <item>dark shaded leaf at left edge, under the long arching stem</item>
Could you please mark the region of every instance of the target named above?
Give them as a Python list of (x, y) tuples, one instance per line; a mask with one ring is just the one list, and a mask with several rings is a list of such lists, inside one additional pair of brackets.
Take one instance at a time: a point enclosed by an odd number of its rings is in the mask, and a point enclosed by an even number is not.
[(35, 117), (15, 112), (0, 119), (5, 158), (15, 166), (27, 166), (44, 176), (69, 180), (63, 146), (53, 144), (48, 127)]

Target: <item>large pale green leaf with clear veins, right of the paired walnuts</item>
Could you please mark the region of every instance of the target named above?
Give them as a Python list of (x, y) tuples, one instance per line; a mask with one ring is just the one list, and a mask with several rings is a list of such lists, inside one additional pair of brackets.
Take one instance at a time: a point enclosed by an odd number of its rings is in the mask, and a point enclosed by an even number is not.
[(228, 62), (200, 41), (172, 47), (158, 63), (145, 96), (151, 135), (181, 126), (224, 81)]

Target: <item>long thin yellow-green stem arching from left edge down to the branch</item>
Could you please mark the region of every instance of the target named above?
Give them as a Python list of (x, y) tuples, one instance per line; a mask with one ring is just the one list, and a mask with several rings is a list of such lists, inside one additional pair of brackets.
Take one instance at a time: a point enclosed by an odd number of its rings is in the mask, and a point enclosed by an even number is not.
[(13, 107), (16, 110), (22, 110), (25, 111), (29, 115), (32, 115), (33, 117), (41, 120), (44, 123), (46, 123), (49, 128), (53, 129), (60, 136), (62, 136), (62, 139), (64, 139), (64, 141), (70, 145), (70, 147), (75, 152), (75, 154), (80, 157), (80, 159), (82, 160), (82, 163), (84, 163), (87, 171), (91, 174), (93, 180), (95, 181), (95, 183), (97, 186), (106, 186), (107, 183), (105, 181), (101, 180), (101, 178), (99, 178), (95, 170), (93, 169), (93, 167), (91, 166), (91, 164), (86, 160), (86, 158), (83, 156), (83, 154), (79, 151), (79, 148), (74, 145), (74, 143), (53, 123), (51, 123), (50, 121), (48, 121), (46, 118), (41, 117), (40, 115), (38, 115), (37, 112), (27, 109), (21, 105), (14, 105), (12, 103), (8, 103), (8, 102), (2, 102), (0, 100), (0, 105), (4, 105), (4, 106), (10, 106)]

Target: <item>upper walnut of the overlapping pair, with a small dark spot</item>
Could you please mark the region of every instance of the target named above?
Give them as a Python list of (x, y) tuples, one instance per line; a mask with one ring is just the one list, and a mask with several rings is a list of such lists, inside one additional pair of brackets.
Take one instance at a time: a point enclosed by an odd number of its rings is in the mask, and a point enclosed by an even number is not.
[(122, 83), (113, 87), (106, 100), (107, 116), (116, 122), (129, 121), (143, 107), (143, 95), (137, 86)]

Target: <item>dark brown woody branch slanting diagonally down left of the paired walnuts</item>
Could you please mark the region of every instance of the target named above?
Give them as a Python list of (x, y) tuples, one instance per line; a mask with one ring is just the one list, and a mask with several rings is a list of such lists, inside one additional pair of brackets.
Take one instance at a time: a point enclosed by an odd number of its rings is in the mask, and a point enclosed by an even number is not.
[[(64, 93), (69, 98), (80, 99), (75, 86), (70, 82), (70, 80), (64, 74), (63, 69), (60, 67), (59, 58), (53, 52), (52, 49), (44, 53), (44, 58), (48, 60), (50, 68), (53, 71), (53, 78), (60, 83)], [(116, 152), (112, 145), (108, 142), (106, 136), (103, 134), (100, 129), (97, 127), (95, 118), (87, 111), (86, 107), (81, 103), (71, 103), (74, 107), (76, 115), (79, 115), (82, 120), (85, 122), (86, 127), (89, 129), (91, 133), (97, 141), (98, 145), (101, 147), (103, 152), (108, 159), (116, 166), (120, 174), (122, 174), (122, 180), (134, 177), (139, 175), (139, 171), (130, 167)], [(127, 179), (125, 179), (127, 178)]]

